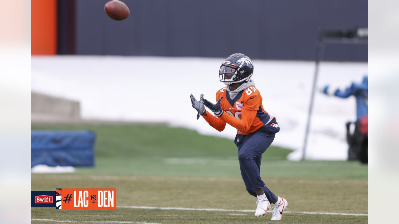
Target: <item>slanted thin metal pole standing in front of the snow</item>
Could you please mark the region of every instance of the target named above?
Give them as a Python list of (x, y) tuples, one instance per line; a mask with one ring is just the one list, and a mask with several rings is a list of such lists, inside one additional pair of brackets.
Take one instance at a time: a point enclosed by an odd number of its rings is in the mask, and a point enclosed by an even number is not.
[(312, 85), (312, 95), (310, 96), (308, 121), (307, 121), (307, 124), (306, 124), (305, 140), (304, 140), (304, 143), (303, 143), (303, 150), (302, 150), (302, 160), (304, 160), (305, 156), (306, 156), (306, 145), (308, 143), (308, 137), (309, 137), (310, 120), (312, 118), (312, 110), (313, 110), (313, 102), (314, 102), (314, 93), (315, 93), (315, 90), (316, 90), (317, 77), (318, 77), (318, 73), (319, 73), (319, 63), (320, 63), (321, 57), (323, 55), (323, 47), (324, 47), (323, 36), (324, 36), (324, 29), (321, 28), (320, 31), (319, 31), (319, 37), (318, 37), (317, 47), (316, 47), (316, 68), (314, 70), (313, 85)]

